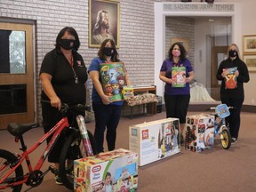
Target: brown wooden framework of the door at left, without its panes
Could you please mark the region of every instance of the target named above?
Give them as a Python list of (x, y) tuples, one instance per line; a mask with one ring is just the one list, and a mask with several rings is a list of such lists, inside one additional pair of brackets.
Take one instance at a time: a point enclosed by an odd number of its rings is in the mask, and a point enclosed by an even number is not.
[[(0, 130), (12, 122), (28, 124), (36, 122), (36, 60), (35, 23), (31, 20), (0, 20), (1, 29), (26, 31), (26, 74), (10, 75), (2, 73), (1, 84), (27, 84), (27, 112), (0, 116)], [(14, 76), (16, 76), (14, 79)], [(25, 77), (26, 76), (26, 77)], [(26, 79), (24, 79), (26, 78)], [(28, 78), (28, 79), (27, 79)]]

